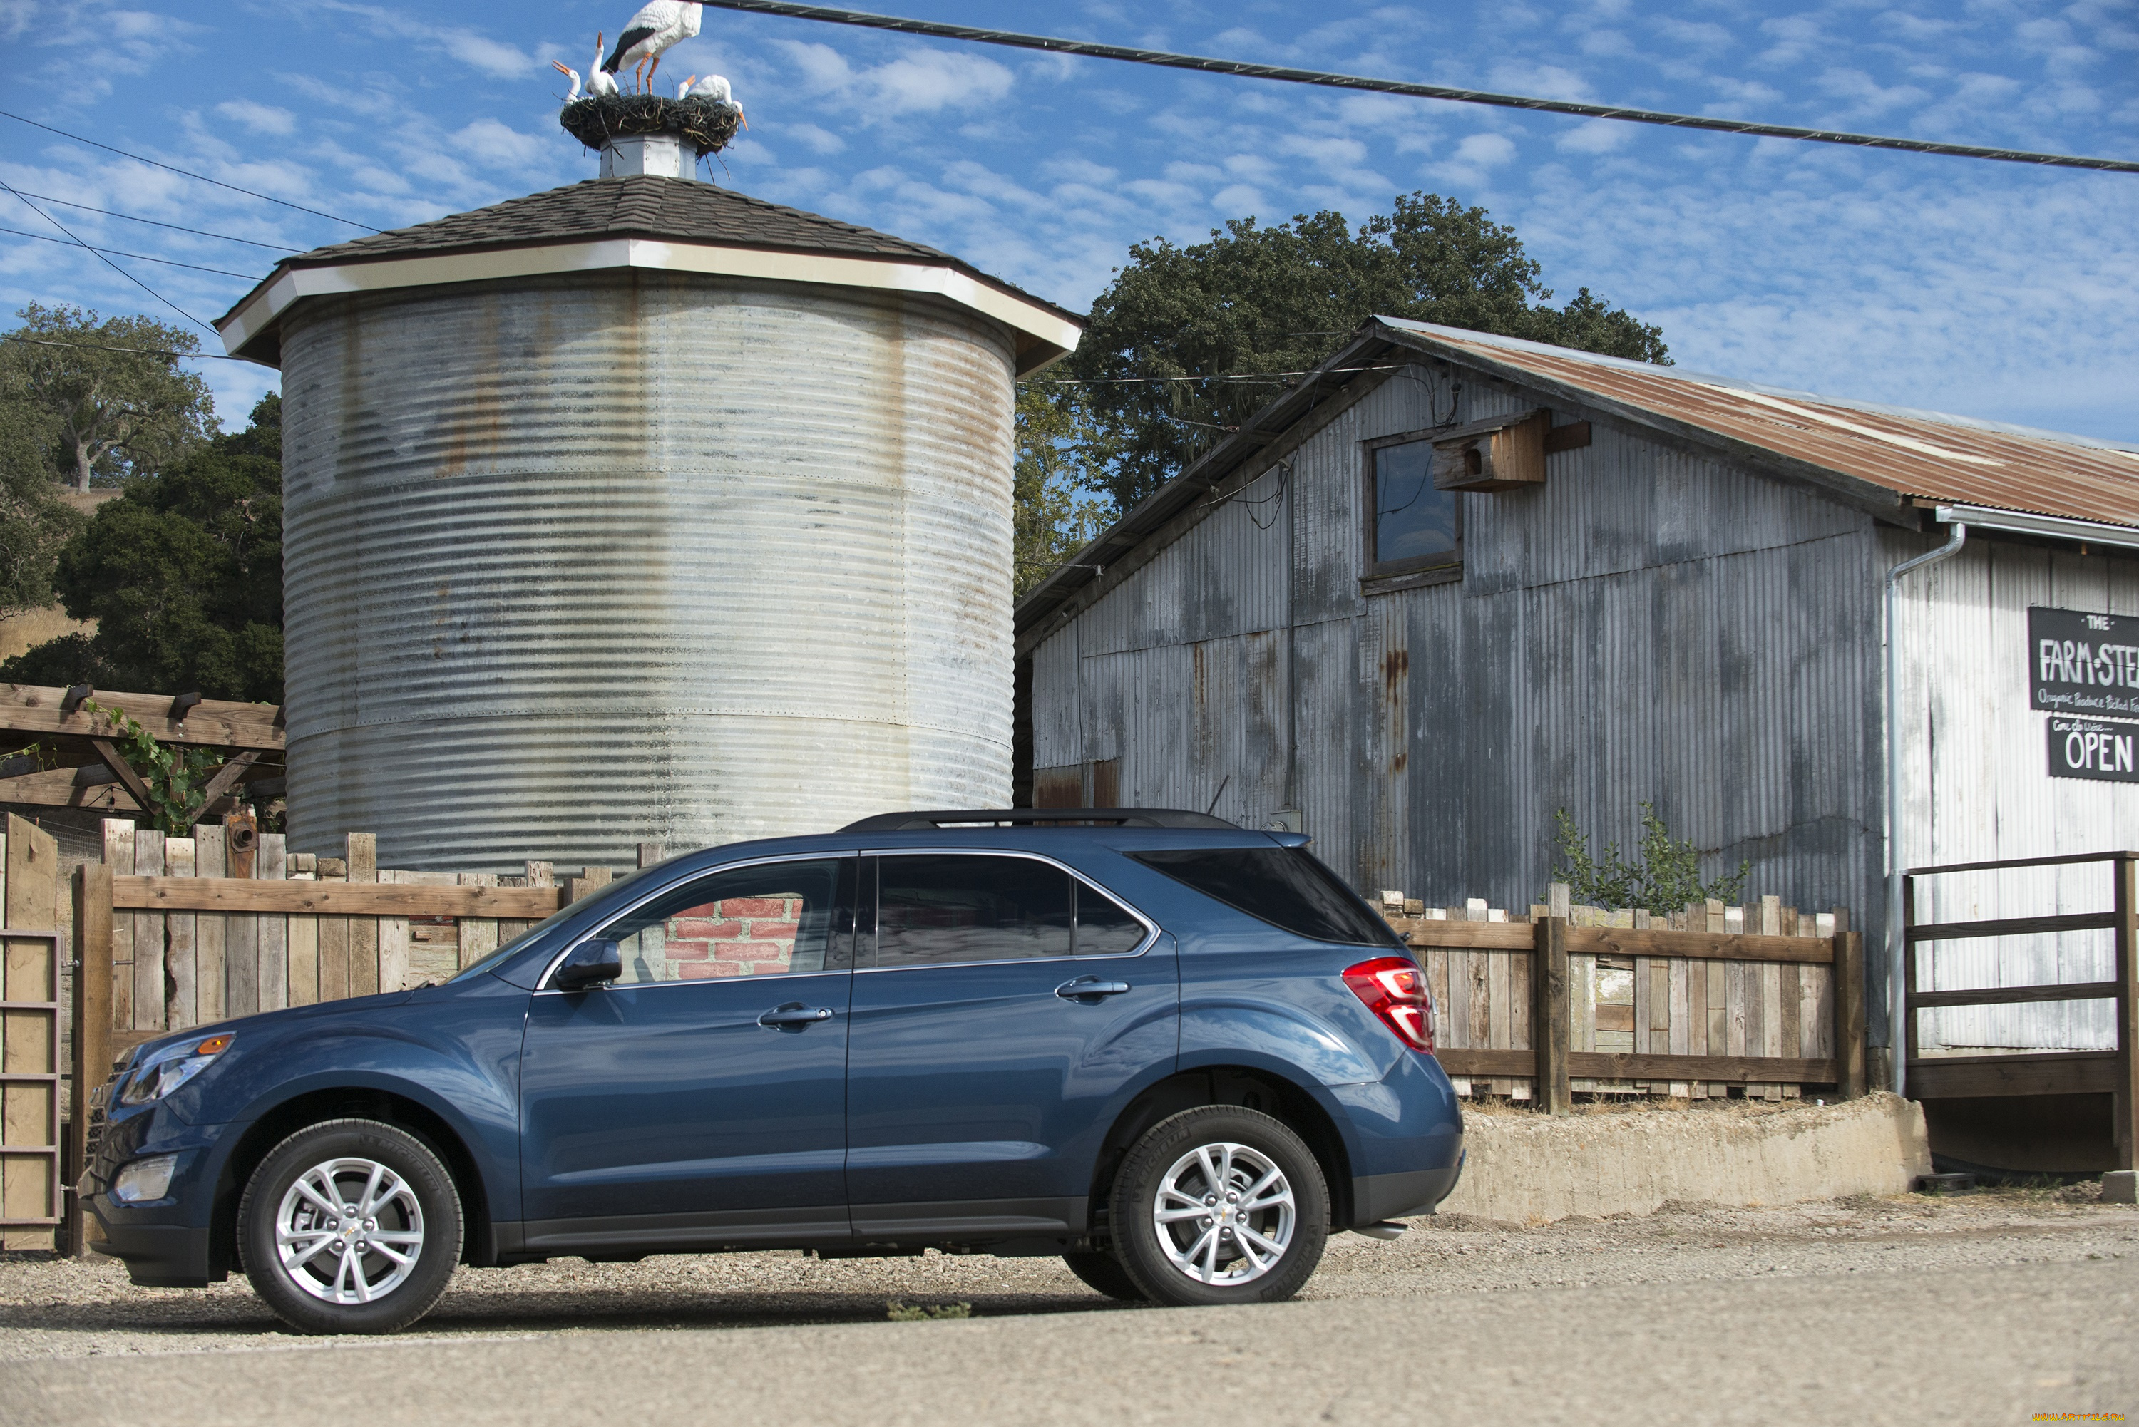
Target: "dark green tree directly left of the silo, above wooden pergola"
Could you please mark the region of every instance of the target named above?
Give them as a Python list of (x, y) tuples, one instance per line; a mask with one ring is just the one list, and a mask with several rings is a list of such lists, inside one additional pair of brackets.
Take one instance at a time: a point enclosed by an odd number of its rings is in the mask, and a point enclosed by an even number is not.
[(58, 561), (94, 635), (0, 663), (0, 678), (282, 702), (282, 402), (169, 471), (128, 481)]

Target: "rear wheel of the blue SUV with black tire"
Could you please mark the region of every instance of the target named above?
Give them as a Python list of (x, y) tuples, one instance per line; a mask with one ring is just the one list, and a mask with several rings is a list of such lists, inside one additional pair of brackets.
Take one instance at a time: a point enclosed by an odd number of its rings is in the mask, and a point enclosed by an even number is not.
[[(1161, 1245), (1161, 1228), (1153, 1219), (1161, 1187), (1168, 1187), (1172, 1179), (1176, 1194), (1183, 1185), (1198, 1192), (1211, 1190), (1209, 1175), (1198, 1168), (1200, 1160), (1196, 1160), (1202, 1147), (1213, 1147), (1211, 1162), (1221, 1172), (1228, 1164), (1234, 1168), (1226, 1177), (1230, 1183), (1226, 1192), (1232, 1194), (1243, 1187), (1251, 1190), (1262, 1172), (1281, 1172), (1292, 1190), (1290, 1222), (1281, 1222), (1283, 1209), (1262, 1209), (1243, 1224), (1247, 1234), (1234, 1239), (1230, 1228), (1221, 1228), (1221, 1215), (1204, 1215), (1168, 1226), (1164, 1232), (1172, 1237), (1172, 1247)], [(1236, 1153), (1228, 1157), (1224, 1147), (1234, 1147)], [(1191, 1160), (1194, 1164), (1183, 1168)], [(1204, 1198), (1224, 1200), (1224, 1194), (1213, 1192)], [(1187, 1204), (1189, 1200), (1183, 1196), (1170, 1198), (1170, 1202)], [(1161, 1119), (1144, 1132), (1114, 1177), (1108, 1222), (1114, 1230), (1114, 1254), (1121, 1267), (1151, 1303), (1170, 1307), (1281, 1303), (1296, 1294), (1322, 1262), (1322, 1245), (1328, 1243), (1328, 1202), (1322, 1166), (1283, 1121), (1258, 1110), (1213, 1104)], [(1211, 1207), (1224, 1209), (1224, 1202)], [(1204, 1237), (1206, 1232), (1217, 1239), (1215, 1245), (1213, 1239)], [(1268, 1245), (1277, 1237), (1283, 1239), (1281, 1249), (1271, 1254)], [(1247, 1252), (1249, 1243), (1264, 1245), (1262, 1254)], [(1196, 1245), (1204, 1245), (1198, 1258), (1217, 1269), (1217, 1282), (1204, 1282), (1176, 1264), (1174, 1256)], [(1268, 1260), (1266, 1267), (1258, 1267), (1258, 1258)]]

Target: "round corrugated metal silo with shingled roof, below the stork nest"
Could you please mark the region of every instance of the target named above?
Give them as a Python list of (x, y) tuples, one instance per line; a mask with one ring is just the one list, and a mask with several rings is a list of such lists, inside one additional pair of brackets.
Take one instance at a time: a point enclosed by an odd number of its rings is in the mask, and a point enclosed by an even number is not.
[(248, 302), (227, 342), (284, 372), (293, 849), (629, 864), (1007, 802), (1012, 383), (1072, 317), (648, 175)]

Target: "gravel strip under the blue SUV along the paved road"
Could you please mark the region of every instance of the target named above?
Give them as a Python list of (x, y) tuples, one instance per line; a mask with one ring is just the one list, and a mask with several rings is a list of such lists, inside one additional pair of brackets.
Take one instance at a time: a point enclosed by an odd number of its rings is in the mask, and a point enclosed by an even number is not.
[[(1786, 1209), (1666, 1204), (1641, 1219), (1544, 1226), (1440, 1215), (1418, 1219), (1395, 1243), (1335, 1237), (1303, 1299), (1442, 1299), (2113, 1260), (2139, 1262), (2139, 1211), (2096, 1202), (2092, 1185)], [(886, 1322), (894, 1301), (965, 1303), (973, 1318), (1142, 1311), (1097, 1296), (1052, 1258), (935, 1252), (832, 1262), (800, 1254), (680, 1256), (640, 1264), (560, 1258), (520, 1269), (462, 1269), (430, 1318), (396, 1341), (862, 1324)], [(103, 1258), (0, 1258), (0, 1361), (233, 1352), (306, 1341), (284, 1333), (242, 1277), (207, 1290), (133, 1288), (124, 1271)]]

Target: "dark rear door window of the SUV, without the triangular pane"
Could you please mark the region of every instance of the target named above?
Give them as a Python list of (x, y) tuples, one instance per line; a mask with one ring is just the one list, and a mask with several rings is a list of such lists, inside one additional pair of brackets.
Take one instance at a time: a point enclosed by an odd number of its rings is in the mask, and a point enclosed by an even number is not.
[(1072, 879), (1031, 858), (877, 860), (877, 965), (1067, 956)]

